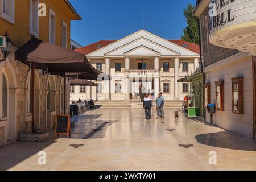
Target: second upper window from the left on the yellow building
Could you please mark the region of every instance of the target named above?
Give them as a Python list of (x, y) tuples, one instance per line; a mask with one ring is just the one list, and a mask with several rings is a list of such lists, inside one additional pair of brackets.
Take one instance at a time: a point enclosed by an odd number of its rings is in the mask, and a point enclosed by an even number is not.
[(39, 37), (38, 0), (30, 0), (30, 34)]

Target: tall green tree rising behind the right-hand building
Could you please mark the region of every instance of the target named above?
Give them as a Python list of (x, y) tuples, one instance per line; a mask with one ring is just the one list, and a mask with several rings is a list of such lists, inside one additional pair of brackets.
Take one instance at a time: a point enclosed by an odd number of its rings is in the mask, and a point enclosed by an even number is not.
[(199, 29), (196, 18), (192, 15), (192, 11), (195, 9), (195, 6), (188, 4), (187, 9), (184, 9), (184, 16), (187, 20), (187, 27), (183, 29), (183, 36), (181, 39), (199, 44)]

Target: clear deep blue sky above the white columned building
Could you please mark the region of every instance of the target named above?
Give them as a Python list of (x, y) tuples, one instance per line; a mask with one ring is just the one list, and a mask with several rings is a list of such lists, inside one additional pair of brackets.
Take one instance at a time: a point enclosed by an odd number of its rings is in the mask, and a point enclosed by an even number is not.
[[(71, 38), (86, 46), (118, 40), (144, 28), (165, 39), (180, 39), (183, 10), (196, 0), (70, 0), (81, 21), (72, 21)], [(144, 13), (145, 12), (145, 13)], [(143, 17), (145, 17), (145, 27)]]

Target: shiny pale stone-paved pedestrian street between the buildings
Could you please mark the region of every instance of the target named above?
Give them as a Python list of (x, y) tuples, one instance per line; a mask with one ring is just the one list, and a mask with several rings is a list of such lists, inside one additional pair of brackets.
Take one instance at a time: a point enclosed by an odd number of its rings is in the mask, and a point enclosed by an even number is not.
[[(165, 113), (164, 119), (147, 122), (143, 109), (89, 111), (72, 118), (76, 127), (70, 139), (54, 139), (51, 131), (45, 142), (16, 142), (0, 148), (0, 169), (256, 170), (253, 140), (187, 120), (181, 113), (175, 120), (172, 109)], [(105, 122), (101, 130), (92, 130)], [(88, 134), (92, 135), (89, 139), (82, 139)], [(38, 152), (42, 150), (47, 164), (40, 166)], [(210, 151), (217, 152), (217, 165), (209, 165)]]

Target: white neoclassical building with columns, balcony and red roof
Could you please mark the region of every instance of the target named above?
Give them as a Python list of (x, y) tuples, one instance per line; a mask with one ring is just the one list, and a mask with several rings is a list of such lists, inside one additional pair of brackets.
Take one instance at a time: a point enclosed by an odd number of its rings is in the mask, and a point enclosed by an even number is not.
[(110, 75), (95, 86), (72, 86), (71, 101), (132, 100), (141, 91), (163, 92), (167, 100), (182, 100), (187, 82), (177, 82), (199, 67), (199, 46), (184, 40), (166, 40), (145, 30), (120, 40), (101, 40), (77, 49), (93, 67)]

